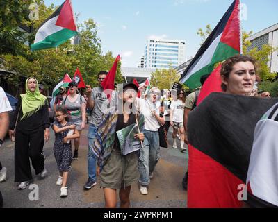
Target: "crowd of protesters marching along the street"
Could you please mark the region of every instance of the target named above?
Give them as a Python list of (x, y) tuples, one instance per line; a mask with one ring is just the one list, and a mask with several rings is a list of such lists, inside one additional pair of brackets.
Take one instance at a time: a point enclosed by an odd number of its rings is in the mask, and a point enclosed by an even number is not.
[[(138, 88), (133, 83), (124, 83), (113, 91), (110, 99), (101, 86), (107, 76), (106, 71), (97, 75), (99, 86), (86, 86), (85, 94), (78, 92), (78, 83), (72, 81), (68, 85), (69, 94), (65, 87), (60, 87), (60, 94), (54, 103), (55, 121), (49, 122), (49, 104), (47, 97), (41, 93), (42, 85), (38, 80), (30, 77), (26, 80), (25, 94), (21, 94), (11, 119), (8, 130), (11, 139), (15, 138), (15, 182), (19, 182), (18, 189), (25, 189), (32, 179), (31, 164), (35, 173), (41, 178), (47, 176), (44, 167), (44, 142), (49, 139), (49, 128), (55, 133), (54, 156), (58, 167), (60, 196), (67, 196), (67, 176), (72, 166), (72, 160), (78, 158), (80, 135), (85, 128), (86, 110), (90, 110), (88, 128), (88, 180), (84, 181), (83, 189), (88, 190), (97, 185), (104, 189), (106, 207), (116, 207), (117, 189), (119, 189), (120, 207), (129, 207), (131, 185), (139, 182), (140, 193), (148, 194), (148, 186), (154, 177), (154, 170), (159, 160), (158, 129), (165, 127), (166, 135), (172, 126), (173, 144), (179, 150), (186, 152), (188, 144), (189, 113), (196, 106), (199, 89), (186, 98), (184, 89), (165, 89), (161, 91), (152, 87), (147, 94), (145, 89)], [(209, 74), (202, 76), (202, 85)], [(253, 92), (256, 82), (256, 66), (252, 58), (234, 56), (222, 65), (222, 91), (226, 94), (270, 97), (269, 92)], [(1, 88), (0, 88), (1, 89)], [(137, 97), (141, 90), (141, 98)], [(6, 114), (10, 106), (1, 90), (1, 130), (0, 142), (6, 135)], [(2, 110), (3, 108), (3, 110)], [(138, 119), (144, 118), (144, 130), (138, 132), (135, 138), (140, 148), (127, 155), (122, 153), (120, 139), (117, 132), (132, 124), (138, 124)], [(72, 155), (72, 141), (74, 152)], [(0, 144), (0, 146), (1, 146)], [(135, 146), (135, 145), (134, 145)], [(131, 144), (131, 149), (133, 144)], [(186, 174), (187, 175), (187, 174)], [(6, 179), (6, 168), (0, 163), (0, 182)], [(186, 178), (187, 180), (187, 178)]]

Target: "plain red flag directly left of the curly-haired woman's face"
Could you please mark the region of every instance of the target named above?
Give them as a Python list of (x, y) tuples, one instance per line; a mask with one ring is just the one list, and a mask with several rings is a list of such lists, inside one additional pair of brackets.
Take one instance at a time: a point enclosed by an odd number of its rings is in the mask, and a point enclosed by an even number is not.
[(206, 98), (211, 92), (222, 92), (221, 89), (221, 77), (220, 77), (220, 70), (221, 70), (221, 64), (216, 67), (210, 76), (206, 79), (204, 82), (204, 85), (202, 86), (201, 92), (198, 96), (197, 105), (202, 102), (203, 99)]

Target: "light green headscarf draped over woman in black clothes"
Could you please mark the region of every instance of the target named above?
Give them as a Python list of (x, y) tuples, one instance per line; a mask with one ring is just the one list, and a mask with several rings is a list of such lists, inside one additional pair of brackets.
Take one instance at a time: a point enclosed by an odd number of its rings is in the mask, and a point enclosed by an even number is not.
[(35, 92), (31, 92), (30, 89), (28, 89), (28, 80), (33, 77), (29, 77), (26, 80), (25, 83), (25, 89), (26, 89), (26, 94), (21, 94), (20, 96), (22, 97), (22, 112), (23, 116), (21, 119), (24, 119), (26, 117), (31, 117), (35, 112), (38, 112), (40, 108), (47, 104), (47, 97), (40, 94), (39, 91), (39, 85), (38, 85), (38, 80), (35, 81), (37, 83), (37, 86), (35, 87)]

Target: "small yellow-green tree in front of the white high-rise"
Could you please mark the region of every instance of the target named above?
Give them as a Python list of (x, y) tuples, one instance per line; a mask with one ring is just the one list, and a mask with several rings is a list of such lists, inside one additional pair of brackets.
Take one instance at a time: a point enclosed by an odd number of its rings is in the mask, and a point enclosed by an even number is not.
[(171, 89), (174, 82), (179, 82), (181, 76), (171, 66), (169, 69), (156, 69), (152, 72), (150, 83), (158, 89)]

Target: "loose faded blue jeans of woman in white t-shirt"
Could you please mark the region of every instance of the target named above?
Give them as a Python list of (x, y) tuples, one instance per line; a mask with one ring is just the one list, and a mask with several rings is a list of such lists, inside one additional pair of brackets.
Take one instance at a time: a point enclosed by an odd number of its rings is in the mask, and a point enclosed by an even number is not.
[(140, 173), (140, 185), (149, 185), (149, 174), (154, 171), (156, 163), (159, 160), (159, 135), (158, 132), (144, 130), (144, 147), (140, 149), (140, 157), (138, 159), (138, 169)]

